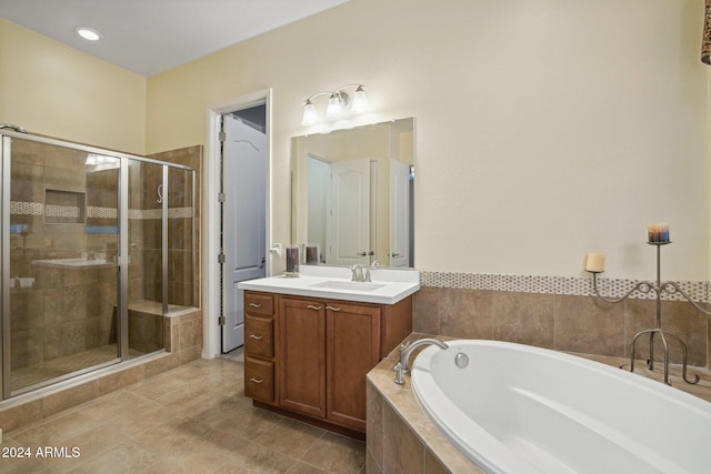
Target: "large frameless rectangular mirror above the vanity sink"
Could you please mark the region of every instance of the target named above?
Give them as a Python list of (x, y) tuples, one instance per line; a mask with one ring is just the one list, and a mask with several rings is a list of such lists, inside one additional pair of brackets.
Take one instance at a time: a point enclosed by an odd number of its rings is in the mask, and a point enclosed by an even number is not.
[(294, 137), (291, 171), (302, 263), (413, 266), (414, 119)]

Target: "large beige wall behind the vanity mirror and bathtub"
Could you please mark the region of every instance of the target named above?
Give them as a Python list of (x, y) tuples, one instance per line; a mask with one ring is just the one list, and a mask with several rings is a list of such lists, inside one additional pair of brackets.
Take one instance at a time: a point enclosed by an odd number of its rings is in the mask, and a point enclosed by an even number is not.
[(352, 0), (148, 84), (148, 150), (204, 142), (210, 104), (273, 88), (273, 239), (289, 242), (289, 139), (313, 92), (362, 82), (417, 118), (415, 265), (708, 279), (700, 1)]

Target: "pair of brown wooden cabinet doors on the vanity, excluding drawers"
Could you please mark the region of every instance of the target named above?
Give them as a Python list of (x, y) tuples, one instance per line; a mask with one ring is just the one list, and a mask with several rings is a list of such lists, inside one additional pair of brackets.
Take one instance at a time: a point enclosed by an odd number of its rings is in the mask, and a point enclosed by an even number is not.
[(380, 306), (282, 296), (279, 405), (365, 430), (365, 374), (380, 362)]

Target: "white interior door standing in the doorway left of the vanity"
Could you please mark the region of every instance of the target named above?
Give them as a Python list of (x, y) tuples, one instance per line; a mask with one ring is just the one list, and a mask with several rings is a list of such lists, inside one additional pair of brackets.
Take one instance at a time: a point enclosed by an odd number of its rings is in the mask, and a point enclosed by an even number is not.
[(267, 275), (267, 135), (232, 115), (223, 120), (222, 352), (229, 352), (244, 344), (243, 290), (237, 284)]

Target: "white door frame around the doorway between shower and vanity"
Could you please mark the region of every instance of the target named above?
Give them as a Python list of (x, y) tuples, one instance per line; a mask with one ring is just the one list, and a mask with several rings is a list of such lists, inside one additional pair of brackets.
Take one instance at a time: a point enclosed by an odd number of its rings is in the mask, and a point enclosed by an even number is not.
[[(272, 238), (271, 230), (271, 182), (272, 182), (272, 137), (271, 137), (271, 99), (272, 90), (263, 89), (250, 94), (240, 95), (233, 99), (216, 103), (208, 107), (207, 110), (207, 138), (204, 153), (204, 203), (206, 219), (203, 223), (203, 234), (206, 235), (206, 245), (203, 251), (203, 275), (202, 282), (203, 301), (203, 359), (214, 359), (220, 356), (222, 352), (222, 329), (219, 324), (220, 316), (220, 264), (218, 254), (220, 253), (220, 234), (218, 232), (220, 224), (220, 202), (218, 193), (220, 189), (220, 117), (224, 113), (234, 112), (237, 110), (249, 109), (251, 107), (264, 104), (267, 110), (266, 134), (267, 134), (267, 215), (266, 224), (266, 242), (264, 248), (269, 249)], [(267, 262), (267, 276), (271, 275), (271, 262)]]

